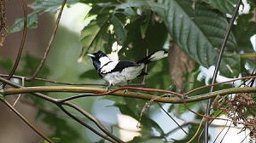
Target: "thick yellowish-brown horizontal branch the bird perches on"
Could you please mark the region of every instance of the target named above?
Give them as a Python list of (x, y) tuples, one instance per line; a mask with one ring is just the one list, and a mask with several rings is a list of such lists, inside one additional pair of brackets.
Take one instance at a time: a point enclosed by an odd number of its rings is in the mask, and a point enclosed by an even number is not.
[[(131, 89), (131, 87), (124, 87), (120, 88), (119, 90), (123, 89)], [(138, 92), (123, 92), (123, 91), (115, 91), (115, 92), (106, 92), (106, 89), (98, 89), (98, 88), (88, 88), (88, 87), (70, 87), (70, 86), (41, 86), (41, 87), (26, 87), (26, 88), (20, 88), (20, 89), (2, 89), (0, 92), (3, 95), (10, 95), (10, 94), (26, 94), (26, 93), (40, 93), (40, 92), (70, 92), (70, 93), (93, 93), (90, 94), (90, 96), (102, 96), (106, 94), (111, 94), (114, 96), (123, 96), (123, 97), (131, 97), (131, 98), (137, 98), (142, 100), (154, 100), (158, 102), (165, 102), (165, 103), (183, 103), (183, 100), (177, 97), (169, 97), (167, 94), (170, 94), (170, 96), (173, 94), (172, 91), (168, 90), (157, 90), (157, 89), (143, 89), (143, 88), (132, 88), (134, 90), (144, 90), (144, 91), (154, 91), (154, 92), (160, 92), (165, 93), (165, 97), (160, 97), (156, 95), (151, 94), (143, 94)], [(231, 89), (223, 89), (218, 90), (212, 93), (207, 94), (199, 94), (195, 96), (191, 96), (186, 98), (185, 102), (195, 102), (200, 100), (207, 100), (215, 97), (216, 95), (225, 95), (225, 94), (238, 94), (238, 93), (256, 93), (256, 88), (231, 88)], [(177, 94), (180, 95), (180, 94)], [(89, 96), (88, 94), (81, 94), (80, 96), (77, 96), (77, 98), (81, 98), (84, 96)]]

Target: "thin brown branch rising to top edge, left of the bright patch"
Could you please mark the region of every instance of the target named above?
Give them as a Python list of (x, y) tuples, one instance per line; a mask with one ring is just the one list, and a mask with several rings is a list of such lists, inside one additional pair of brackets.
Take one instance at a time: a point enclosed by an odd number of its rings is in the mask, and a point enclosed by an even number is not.
[(65, 6), (65, 3), (66, 3), (66, 2), (67, 2), (67, 0), (63, 0), (63, 3), (61, 4), (61, 9), (60, 9), (60, 12), (59, 12), (59, 14), (58, 14), (58, 16), (57, 16), (56, 22), (55, 22), (54, 31), (53, 31), (53, 33), (52, 33), (50, 39), (49, 39), (49, 44), (48, 44), (48, 46), (47, 46), (47, 48), (46, 48), (46, 50), (45, 50), (45, 52), (44, 52), (44, 57), (43, 57), (43, 59), (41, 60), (41, 62), (40, 62), (40, 64), (39, 64), (39, 66), (38, 66), (36, 72), (34, 72), (33, 75), (32, 75), (32, 77), (29, 77), (28, 80), (32, 80), (32, 79), (34, 79), (35, 77), (37, 77), (38, 72), (40, 72), (42, 66), (44, 65), (44, 61), (46, 60), (46, 57), (47, 57), (47, 55), (49, 54), (49, 49), (50, 49), (51, 44), (53, 43), (53, 40), (54, 40), (54, 38), (55, 38), (55, 34), (56, 34), (57, 29), (58, 29), (60, 20), (61, 20), (61, 14), (62, 14), (62, 11), (63, 11), (63, 9), (64, 9), (64, 6)]

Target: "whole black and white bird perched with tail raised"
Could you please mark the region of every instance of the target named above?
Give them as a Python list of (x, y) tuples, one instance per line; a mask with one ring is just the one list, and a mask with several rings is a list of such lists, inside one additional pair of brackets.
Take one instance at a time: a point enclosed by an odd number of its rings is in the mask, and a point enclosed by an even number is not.
[(161, 49), (137, 62), (127, 60), (112, 61), (101, 50), (87, 55), (92, 59), (93, 66), (100, 77), (109, 83), (108, 89), (112, 85), (128, 83), (136, 77), (147, 75), (146, 72), (143, 72), (143, 68), (152, 61), (167, 57), (168, 53)]

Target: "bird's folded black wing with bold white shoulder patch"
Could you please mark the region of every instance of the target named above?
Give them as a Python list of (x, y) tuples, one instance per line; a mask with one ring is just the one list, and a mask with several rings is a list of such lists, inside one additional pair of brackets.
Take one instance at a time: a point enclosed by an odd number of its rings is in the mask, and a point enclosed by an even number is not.
[(110, 73), (110, 72), (121, 72), (125, 67), (130, 66), (138, 66), (139, 64), (132, 62), (132, 61), (126, 61), (126, 60), (119, 60), (119, 61), (113, 61), (109, 62), (105, 66), (102, 66), (101, 73)]

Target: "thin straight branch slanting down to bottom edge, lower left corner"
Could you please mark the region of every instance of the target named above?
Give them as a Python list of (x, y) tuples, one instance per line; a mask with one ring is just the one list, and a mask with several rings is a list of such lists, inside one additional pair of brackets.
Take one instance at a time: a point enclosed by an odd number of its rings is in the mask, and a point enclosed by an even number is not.
[(26, 123), (31, 129), (33, 129), (33, 130), (34, 130), (37, 134), (39, 134), (42, 138), (44, 138), (44, 140), (47, 140), (49, 143), (53, 143), (52, 140), (49, 140), (49, 138), (48, 138), (47, 136), (45, 136), (45, 135), (44, 135), (43, 133), (41, 133), (36, 127), (34, 127), (34, 126), (32, 125), (32, 123), (30, 123), (30, 122), (26, 119), (26, 117), (23, 117), (23, 115), (21, 115), (20, 112), (18, 112), (18, 111), (15, 109), (15, 107), (11, 106), (7, 100), (4, 100), (4, 99), (2, 99), (2, 98), (1, 98), (0, 100), (1, 100), (6, 106), (8, 106), (9, 109), (11, 109), (11, 111), (15, 112), (15, 114), (16, 114), (18, 117), (20, 117), (20, 119), (21, 119), (24, 123)]

